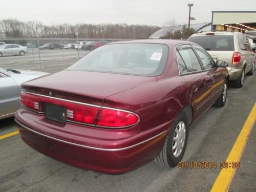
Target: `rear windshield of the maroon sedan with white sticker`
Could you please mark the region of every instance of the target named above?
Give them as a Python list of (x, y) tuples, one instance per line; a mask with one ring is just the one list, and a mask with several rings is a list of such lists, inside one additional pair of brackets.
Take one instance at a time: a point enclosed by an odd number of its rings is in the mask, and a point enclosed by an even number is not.
[(162, 44), (110, 44), (97, 48), (67, 70), (156, 76), (165, 69), (168, 47)]

